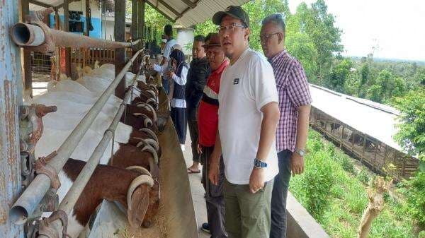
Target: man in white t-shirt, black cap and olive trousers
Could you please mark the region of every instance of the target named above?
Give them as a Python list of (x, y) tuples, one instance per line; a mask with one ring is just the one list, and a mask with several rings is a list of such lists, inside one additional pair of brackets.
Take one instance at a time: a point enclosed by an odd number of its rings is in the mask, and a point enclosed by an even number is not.
[(222, 154), (229, 237), (268, 237), (273, 178), (278, 174), (279, 109), (273, 69), (249, 48), (249, 17), (241, 7), (215, 13), (212, 22), (220, 25), (220, 43), (230, 65), (220, 81), (218, 132), (209, 178), (217, 184)]

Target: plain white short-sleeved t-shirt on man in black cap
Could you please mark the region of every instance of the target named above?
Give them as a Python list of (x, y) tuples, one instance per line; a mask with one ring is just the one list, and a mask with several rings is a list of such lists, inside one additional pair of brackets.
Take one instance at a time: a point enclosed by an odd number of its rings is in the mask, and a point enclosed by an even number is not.
[[(232, 184), (249, 184), (260, 141), (263, 119), (260, 109), (269, 102), (278, 102), (271, 65), (258, 52), (246, 49), (223, 71), (218, 101), (218, 129), (226, 179)], [(279, 172), (274, 141), (266, 162), (264, 181), (267, 182)]]

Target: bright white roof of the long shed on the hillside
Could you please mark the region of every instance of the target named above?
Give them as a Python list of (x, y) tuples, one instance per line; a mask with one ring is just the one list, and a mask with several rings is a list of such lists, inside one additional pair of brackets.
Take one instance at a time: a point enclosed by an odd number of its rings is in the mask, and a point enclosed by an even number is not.
[(312, 106), (353, 129), (382, 141), (396, 150), (403, 151), (394, 140), (398, 132), (399, 112), (394, 107), (377, 102), (336, 93), (327, 88), (310, 84)]

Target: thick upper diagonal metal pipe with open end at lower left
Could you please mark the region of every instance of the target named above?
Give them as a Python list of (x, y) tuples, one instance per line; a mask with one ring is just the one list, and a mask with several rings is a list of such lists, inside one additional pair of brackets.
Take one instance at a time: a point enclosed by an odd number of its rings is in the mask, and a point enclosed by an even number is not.
[[(134, 63), (137, 56), (142, 52), (143, 49), (140, 49), (136, 52), (134, 56), (125, 64), (124, 68), (118, 75), (115, 77), (111, 85), (106, 88), (102, 93), (101, 97), (94, 103), (93, 107), (87, 112), (83, 119), (79, 122), (77, 127), (69, 134), (67, 139), (62, 143), (59, 149), (57, 149), (57, 155), (52, 157), (49, 162), (49, 165), (52, 166), (57, 173), (62, 170), (65, 163), (69, 159), (69, 156), (75, 150), (81, 138), (87, 130), (89, 130), (94, 119), (96, 119), (99, 112), (105, 105), (108, 98), (113, 94), (115, 88), (120, 83), (121, 79), (124, 77), (125, 73), (130, 69), (130, 66)], [(9, 216), (12, 222), (16, 225), (22, 225), (26, 222), (28, 215), (32, 214), (38, 203), (45, 196), (46, 192), (50, 189), (50, 178), (45, 174), (38, 174), (34, 178), (33, 182), (23, 191), (23, 194), (18, 198), (18, 200), (13, 204)]]

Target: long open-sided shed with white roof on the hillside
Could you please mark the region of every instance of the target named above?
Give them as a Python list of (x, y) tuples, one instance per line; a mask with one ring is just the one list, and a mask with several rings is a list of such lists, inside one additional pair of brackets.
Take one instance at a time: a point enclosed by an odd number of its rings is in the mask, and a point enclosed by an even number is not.
[(409, 179), (419, 160), (395, 141), (399, 112), (310, 84), (310, 125), (378, 174)]

